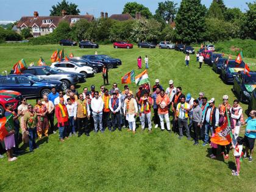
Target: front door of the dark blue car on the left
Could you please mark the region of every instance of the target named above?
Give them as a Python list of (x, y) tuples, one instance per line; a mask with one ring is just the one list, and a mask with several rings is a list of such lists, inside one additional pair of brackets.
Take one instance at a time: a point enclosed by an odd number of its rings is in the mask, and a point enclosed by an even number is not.
[(23, 91), (22, 94), (27, 96), (35, 96), (37, 93), (37, 85), (34, 81), (24, 76), (16, 76), (17, 86)]

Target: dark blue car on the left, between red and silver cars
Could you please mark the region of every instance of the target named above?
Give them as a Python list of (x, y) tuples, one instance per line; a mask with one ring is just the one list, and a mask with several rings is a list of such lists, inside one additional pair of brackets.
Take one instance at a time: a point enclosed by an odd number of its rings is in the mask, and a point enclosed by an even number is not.
[(27, 98), (42, 98), (49, 94), (51, 88), (61, 90), (62, 82), (59, 80), (46, 80), (32, 74), (11, 74), (0, 76), (0, 90), (13, 90), (20, 92)]

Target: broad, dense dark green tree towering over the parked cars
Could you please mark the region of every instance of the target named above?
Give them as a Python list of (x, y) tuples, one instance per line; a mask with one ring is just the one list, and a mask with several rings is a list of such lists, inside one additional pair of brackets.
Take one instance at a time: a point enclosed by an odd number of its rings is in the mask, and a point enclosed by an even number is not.
[(206, 7), (201, 0), (182, 0), (176, 15), (177, 40), (200, 43), (205, 38)]

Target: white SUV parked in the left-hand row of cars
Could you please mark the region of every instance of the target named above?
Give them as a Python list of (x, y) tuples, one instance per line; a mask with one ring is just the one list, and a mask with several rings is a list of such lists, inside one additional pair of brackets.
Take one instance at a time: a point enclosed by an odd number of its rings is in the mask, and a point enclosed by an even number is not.
[(78, 63), (71, 62), (71, 61), (63, 61), (63, 62), (54, 62), (51, 65), (51, 68), (54, 69), (62, 69), (63, 71), (67, 72), (74, 72), (74, 73), (82, 73), (86, 77), (94, 76), (95, 71), (90, 66), (82, 66)]

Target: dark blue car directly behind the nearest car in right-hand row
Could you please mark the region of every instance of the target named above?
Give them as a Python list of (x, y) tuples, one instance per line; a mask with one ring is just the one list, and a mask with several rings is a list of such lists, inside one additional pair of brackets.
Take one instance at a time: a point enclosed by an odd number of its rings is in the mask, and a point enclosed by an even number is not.
[(238, 71), (244, 71), (245, 63), (242, 61), (240, 65), (235, 62), (235, 60), (229, 60), (229, 63), (222, 65), (221, 67), (221, 79), (224, 80), (226, 84), (232, 84), (234, 81), (234, 76)]

